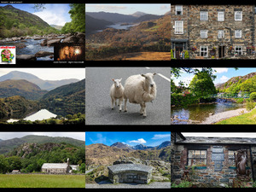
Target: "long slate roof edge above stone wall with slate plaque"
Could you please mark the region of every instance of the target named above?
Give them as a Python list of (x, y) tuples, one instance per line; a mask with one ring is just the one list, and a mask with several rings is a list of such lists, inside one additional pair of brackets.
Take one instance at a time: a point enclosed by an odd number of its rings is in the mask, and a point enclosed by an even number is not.
[(185, 140), (177, 140), (177, 144), (185, 143), (205, 143), (205, 144), (254, 144), (256, 145), (256, 138), (245, 137), (185, 137)]

